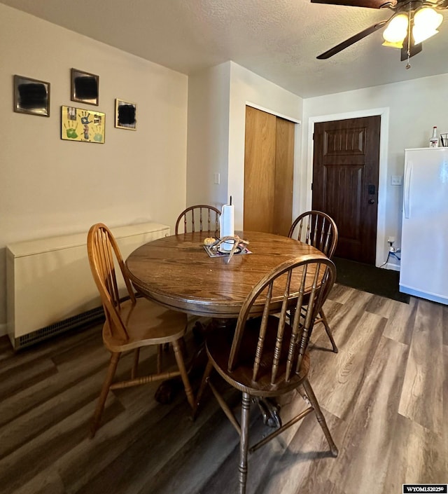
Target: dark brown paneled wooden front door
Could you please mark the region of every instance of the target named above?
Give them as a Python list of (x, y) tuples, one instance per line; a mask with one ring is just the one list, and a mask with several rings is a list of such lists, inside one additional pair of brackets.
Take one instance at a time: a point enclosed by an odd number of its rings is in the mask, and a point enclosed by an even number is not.
[(380, 123), (370, 116), (314, 125), (312, 207), (337, 224), (335, 256), (367, 264), (375, 263)]

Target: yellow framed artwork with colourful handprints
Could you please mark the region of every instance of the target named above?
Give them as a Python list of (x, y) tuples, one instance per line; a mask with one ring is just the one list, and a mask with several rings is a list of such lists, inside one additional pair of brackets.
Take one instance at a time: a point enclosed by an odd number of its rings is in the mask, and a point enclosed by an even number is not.
[(61, 107), (61, 139), (104, 144), (106, 115), (75, 107)]

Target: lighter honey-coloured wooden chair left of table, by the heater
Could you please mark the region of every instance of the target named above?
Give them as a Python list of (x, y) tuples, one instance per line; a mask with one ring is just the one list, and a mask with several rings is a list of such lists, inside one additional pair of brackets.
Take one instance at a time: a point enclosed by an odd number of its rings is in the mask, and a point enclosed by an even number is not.
[[(136, 297), (118, 244), (106, 225), (99, 223), (90, 228), (87, 235), (87, 253), (106, 315), (103, 343), (111, 352), (109, 369), (94, 411), (90, 437), (94, 437), (99, 427), (109, 390), (181, 376), (188, 402), (194, 410), (195, 399), (181, 345), (186, 331), (186, 315), (167, 310), (143, 297)], [(125, 282), (124, 294), (120, 294), (118, 289), (119, 273)], [(174, 348), (178, 367), (172, 371), (162, 371), (162, 345), (167, 343)], [(157, 371), (150, 375), (137, 376), (140, 348), (150, 345), (158, 347)], [(134, 351), (131, 376), (126, 380), (114, 381), (120, 355), (129, 350)]]

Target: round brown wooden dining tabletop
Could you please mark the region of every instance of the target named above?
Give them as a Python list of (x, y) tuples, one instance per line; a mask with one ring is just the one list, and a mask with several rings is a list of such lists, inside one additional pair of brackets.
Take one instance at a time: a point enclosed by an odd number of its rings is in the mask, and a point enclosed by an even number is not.
[[(192, 315), (230, 319), (238, 317), (255, 284), (283, 261), (307, 256), (326, 259), (315, 247), (293, 238), (256, 231), (236, 233), (248, 240), (251, 254), (235, 254), (230, 262), (228, 256), (207, 254), (204, 239), (213, 236), (208, 231), (148, 242), (126, 260), (130, 279), (141, 294), (162, 306)], [(309, 273), (310, 285), (313, 274)], [(260, 307), (253, 307), (253, 315), (258, 315)]]

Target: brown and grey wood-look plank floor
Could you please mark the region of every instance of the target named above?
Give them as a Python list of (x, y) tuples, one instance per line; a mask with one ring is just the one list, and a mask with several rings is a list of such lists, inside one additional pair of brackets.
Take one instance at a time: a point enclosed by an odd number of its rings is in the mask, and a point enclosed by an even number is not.
[[(339, 353), (316, 326), (310, 382), (338, 458), (314, 415), (249, 458), (248, 494), (394, 494), (448, 482), (448, 308), (335, 285), (325, 303)], [(153, 364), (153, 354), (144, 366)], [(193, 423), (184, 394), (156, 384), (109, 395), (88, 427), (109, 355), (101, 327), (13, 353), (0, 338), (1, 494), (230, 494), (239, 438), (210, 392)], [(119, 369), (130, 368), (131, 356)], [(230, 401), (239, 395), (229, 392)], [(303, 407), (297, 394), (281, 415)], [(252, 437), (265, 432), (253, 406)]]

